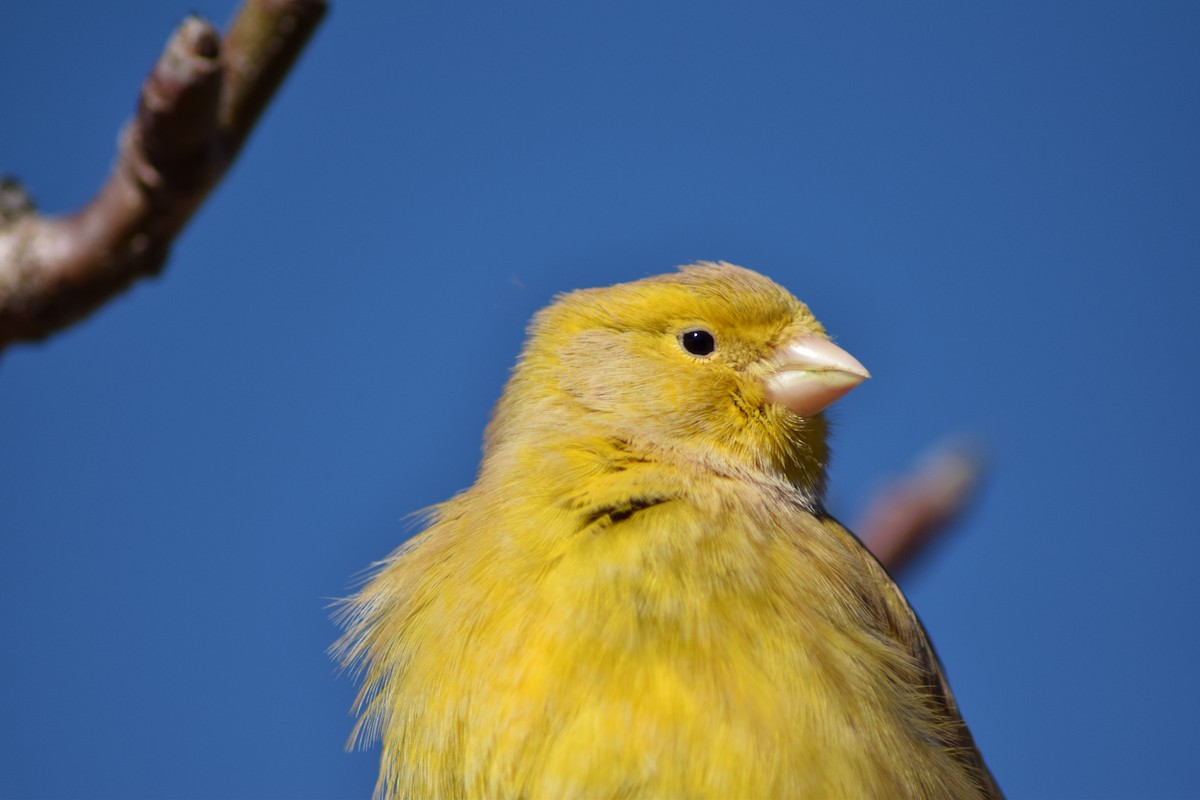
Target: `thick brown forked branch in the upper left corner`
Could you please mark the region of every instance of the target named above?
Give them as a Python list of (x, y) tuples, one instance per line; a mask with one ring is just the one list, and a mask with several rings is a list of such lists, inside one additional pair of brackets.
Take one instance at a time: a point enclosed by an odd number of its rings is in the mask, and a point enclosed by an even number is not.
[(0, 180), (0, 349), (67, 327), (162, 270), (325, 11), (325, 0), (246, 0), (223, 41), (185, 19), (142, 86), (113, 172), (76, 213), (43, 217)]

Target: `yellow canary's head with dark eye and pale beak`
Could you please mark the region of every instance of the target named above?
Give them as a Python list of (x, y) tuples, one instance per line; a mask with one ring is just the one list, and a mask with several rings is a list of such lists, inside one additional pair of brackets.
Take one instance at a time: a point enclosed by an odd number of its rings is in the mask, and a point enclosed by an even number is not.
[(821, 411), (868, 377), (779, 284), (694, 264), (572, 291), (540, 312), (487, 446), (611, 437), (652, 458), (784, 476), (820, 497)]

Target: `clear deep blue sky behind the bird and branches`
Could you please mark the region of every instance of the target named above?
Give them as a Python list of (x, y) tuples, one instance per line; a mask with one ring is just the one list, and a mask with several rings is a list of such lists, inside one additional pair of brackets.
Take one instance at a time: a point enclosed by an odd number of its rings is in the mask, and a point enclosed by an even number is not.
[[(66, 211), (178, 19), (11, 4), (0, 170)], [(469, 485), (529, 315), (726, 259), (875, 378), (851, 523), (994, 471), (904, 584), (1014, 798), (1183, 796), (1200, 11), (335, 4), (157, 281), (0, 359), (0, 796), (366, 796), (329, 599)]]

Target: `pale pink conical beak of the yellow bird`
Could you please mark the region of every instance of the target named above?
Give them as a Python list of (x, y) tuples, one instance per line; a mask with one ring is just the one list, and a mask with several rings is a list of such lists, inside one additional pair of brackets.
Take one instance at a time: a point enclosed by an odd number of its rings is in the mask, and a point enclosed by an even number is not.
[(804, 336), (775, 349), (767, 399), (812, 416), (871, 377), (858, 359), (822, 336)]

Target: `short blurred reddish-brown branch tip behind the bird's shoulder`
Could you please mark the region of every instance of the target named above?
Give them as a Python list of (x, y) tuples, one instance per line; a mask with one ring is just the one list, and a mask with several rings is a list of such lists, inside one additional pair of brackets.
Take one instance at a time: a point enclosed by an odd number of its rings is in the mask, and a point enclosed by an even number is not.
[(875, 495), (856, 530), (896, 575), (971, 506), (985, 469), (979, 446), (942, 443)]

